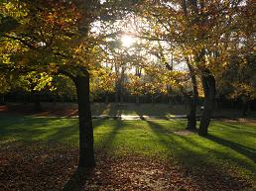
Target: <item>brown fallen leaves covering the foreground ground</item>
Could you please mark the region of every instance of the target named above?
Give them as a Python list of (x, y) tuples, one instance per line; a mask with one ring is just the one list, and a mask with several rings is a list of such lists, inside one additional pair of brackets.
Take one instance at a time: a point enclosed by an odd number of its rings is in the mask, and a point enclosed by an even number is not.
[(10, 143), (0, 153), (0, 191), (253, 190), (235, 173), (134, 153), (97, 150), (93, 169), (78, 169), (78, 149), (61, 143)]

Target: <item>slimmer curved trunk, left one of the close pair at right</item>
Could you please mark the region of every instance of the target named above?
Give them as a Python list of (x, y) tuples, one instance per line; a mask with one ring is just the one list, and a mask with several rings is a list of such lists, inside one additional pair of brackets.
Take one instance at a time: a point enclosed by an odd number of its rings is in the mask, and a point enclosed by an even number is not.
[(197, 90), (197, 82), (195, 77), (194, 68), (192, 67), (192, 64), (188, 62), (188, 66), (190, 69), (190, 75), (192, 78), (192, 98), (190, 100), (190, 114), (188, 115), (188, 126), (187, 129), (189, 130), (195, 130), (196, 129), (196, 105), (198, 101), (198, 90)]

